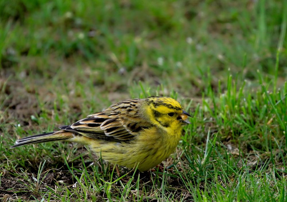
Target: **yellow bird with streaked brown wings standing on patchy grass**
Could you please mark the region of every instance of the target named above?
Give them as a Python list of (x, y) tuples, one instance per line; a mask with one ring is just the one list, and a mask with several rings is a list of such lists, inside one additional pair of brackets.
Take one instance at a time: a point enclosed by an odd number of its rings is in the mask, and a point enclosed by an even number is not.
[(103, 160), (148, 171), (175, 151), (182, 125), (191, 117), (170, 97), (129, 99), (110, 105), (58, 131), (16, 140), (11, 148), (47, 141), (87, 145)]

